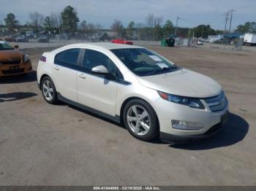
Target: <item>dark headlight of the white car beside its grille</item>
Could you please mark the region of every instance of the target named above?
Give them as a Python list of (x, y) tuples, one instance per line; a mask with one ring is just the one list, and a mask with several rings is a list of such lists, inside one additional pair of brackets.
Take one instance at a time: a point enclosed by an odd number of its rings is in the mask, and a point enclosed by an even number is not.
[(172, 95), (170, 93), (163, 93), (160, 91), (157, 91), (161, 98), (171, 101), (176, 104), (182, 104), (186, 106), (190, 106), (192, 108), (196, 109), (205, 109), (205, 106), (203, 106), (202, 102), (198, 98), (188, 98), (184, 96), (179, 96), (179, 95)]

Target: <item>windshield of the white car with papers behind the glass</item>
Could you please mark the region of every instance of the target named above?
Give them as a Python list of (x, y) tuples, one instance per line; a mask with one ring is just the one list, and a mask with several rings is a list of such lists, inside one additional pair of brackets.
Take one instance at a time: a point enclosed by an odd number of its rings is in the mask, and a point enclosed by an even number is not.
[(124, 48), (111, 51), (138, 76), (150, 76), (180, 69), (156, 52), (144, 48)]

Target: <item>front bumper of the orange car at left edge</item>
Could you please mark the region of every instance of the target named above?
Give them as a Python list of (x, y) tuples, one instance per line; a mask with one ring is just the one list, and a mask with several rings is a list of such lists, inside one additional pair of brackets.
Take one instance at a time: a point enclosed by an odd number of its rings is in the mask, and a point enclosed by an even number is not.
[(6, 64), (0, 66), (0, 77), (27, 74), (32, 71), (31, 61), (20, 64)]

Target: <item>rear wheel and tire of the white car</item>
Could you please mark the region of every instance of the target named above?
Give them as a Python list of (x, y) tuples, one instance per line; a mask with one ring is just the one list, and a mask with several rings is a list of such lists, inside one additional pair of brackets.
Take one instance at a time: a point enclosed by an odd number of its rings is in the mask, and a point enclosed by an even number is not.
[[(48, 89), (47, 89), (48, 88)], [(53, 80), (50, 77), (44, 77), (41, 82), (42, 96), (48, 104), (57, 104), (57, 92)]]

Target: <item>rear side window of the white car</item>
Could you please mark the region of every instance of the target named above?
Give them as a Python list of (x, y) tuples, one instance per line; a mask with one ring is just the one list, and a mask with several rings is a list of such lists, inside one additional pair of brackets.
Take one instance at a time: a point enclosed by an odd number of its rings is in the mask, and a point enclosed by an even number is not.
[(59, 52), (55, 58), (54, 63), (61, 66), (78, 65), (79, 48), (73, 48)]

